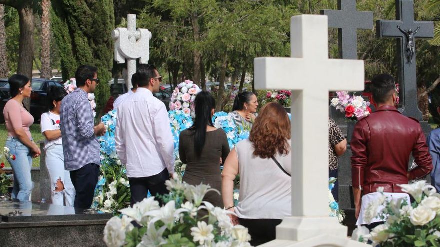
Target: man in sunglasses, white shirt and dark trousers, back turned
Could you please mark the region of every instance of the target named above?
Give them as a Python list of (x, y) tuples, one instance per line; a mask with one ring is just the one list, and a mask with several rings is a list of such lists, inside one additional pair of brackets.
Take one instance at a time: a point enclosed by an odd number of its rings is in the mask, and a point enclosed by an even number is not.
[(137, 69), (138, 88), (117, 111), (116, 152), (127, 167), (131, 206), (151, 195), (168, 194), (174, 173), (174, 141), (165, 104), (153, 96), (162, 77), (150, 64)]

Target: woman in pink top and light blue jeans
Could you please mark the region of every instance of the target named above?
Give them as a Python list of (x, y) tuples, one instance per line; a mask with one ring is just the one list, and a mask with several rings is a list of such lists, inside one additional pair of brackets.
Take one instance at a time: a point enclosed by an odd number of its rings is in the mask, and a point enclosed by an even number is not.
[(30, 97), (32, 86), (24, 75), (12, 75), (8, 83), (11, 99), (4, 106), (3, 115), (8, 135), (6, 147), (9, 148), (10, 153), (7, 160), (14, 170), (12, 199), (29, 201), (32, 192), (30, 177), (32, 157), (35, 158), (41, 154), (30, 134), (33, 117), (23, 106), (24, 98)]

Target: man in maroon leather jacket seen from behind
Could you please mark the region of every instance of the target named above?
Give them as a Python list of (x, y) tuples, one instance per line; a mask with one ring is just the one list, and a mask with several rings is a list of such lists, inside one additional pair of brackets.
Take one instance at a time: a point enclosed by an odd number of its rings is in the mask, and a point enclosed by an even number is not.
[[(401, 193), (397, 184), (419, 179), (432, 170), (426, 138), (416, 119), (402, 115), (395, 108), (394, 78), (381, 74), (371, 81), (376, 110), (358, 120), (351, 139), (351, 173), (356, 218), (361, 196), (376, 192)], [(409, 156), (417, 167), (408, 172)], [(362, 195), (361, 195), (362, 194)]]

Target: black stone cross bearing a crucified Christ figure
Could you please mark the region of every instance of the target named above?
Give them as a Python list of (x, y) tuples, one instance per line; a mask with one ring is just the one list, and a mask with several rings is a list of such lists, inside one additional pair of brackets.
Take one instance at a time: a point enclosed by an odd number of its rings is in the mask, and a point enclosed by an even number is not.
[(414, 2), (395, 1), (396, 20), (377, 20), (377, 37), (397, 38), (398, 79), (400, 84), (399, 109), (404, 115), (423, 120), (418, 109), (417, 75), (415, 67), (415, 38), (432, 38), (434, 23), (414, 21)]

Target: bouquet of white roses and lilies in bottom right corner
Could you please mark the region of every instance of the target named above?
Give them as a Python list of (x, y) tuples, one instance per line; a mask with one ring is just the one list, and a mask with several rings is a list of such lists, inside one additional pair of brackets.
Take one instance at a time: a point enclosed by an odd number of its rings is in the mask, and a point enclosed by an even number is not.
[[(384, 223), (371, 232), (363, 226), (356, 228), (351, 238), (364, 243), (370, 240), (373, 246), (380, 247), (440, 247), (440, 194), (424, 180), (399, 186), (415, 202), (392, 200), (379, 187), (377, 191), (382, 195), (368, 204), (365, 218), (378, 216)], [(377, 214), (381, 206), (384, 208)]]

